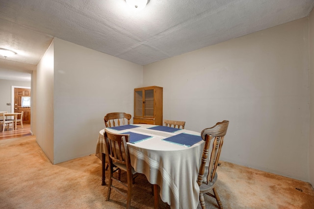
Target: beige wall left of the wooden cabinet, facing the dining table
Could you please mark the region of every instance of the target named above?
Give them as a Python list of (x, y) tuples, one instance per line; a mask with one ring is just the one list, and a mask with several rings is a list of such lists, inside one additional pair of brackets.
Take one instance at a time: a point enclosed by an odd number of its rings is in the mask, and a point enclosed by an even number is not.
[(132, 114), (141, 85), (142, 66), (55, 38), (53, 163), (95, 153), (105, 114)]

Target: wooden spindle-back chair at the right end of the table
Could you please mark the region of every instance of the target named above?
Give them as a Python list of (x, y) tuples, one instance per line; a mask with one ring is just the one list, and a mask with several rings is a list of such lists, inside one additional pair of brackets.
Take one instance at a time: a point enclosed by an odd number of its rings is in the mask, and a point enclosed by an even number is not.
[[(228, 125), (229, 121), (224, 120), (222, 122), (216, 123), (216, 125), (214, 125), (211, 128), (204, 129), (201, 133), (202, 139), (205, 140), (205, 145), (203, 149), (203, 155), (201, 158), (201, 166), (199, 169), (197, 184), (200, 187), (200, 202), (202, 209), (206, 209), (204, 194), (214, 197), (217, 201), (218, 207), (220, 209), (223, 208), (219, 195), (215, 188), (218, 178), (216, 168), (219, 161), (221, 147), (224, 142), (224, 137), (227, 133)], [(208, 155), (210, 144), (212, 150), (209, 157)], [(208, 157), (209, 163), (206, 163)], [(206, 164), (208, 164), (209, 166), (207, 167)], [(209, 191), (211, 190), (213, 194), (209, 193)]]

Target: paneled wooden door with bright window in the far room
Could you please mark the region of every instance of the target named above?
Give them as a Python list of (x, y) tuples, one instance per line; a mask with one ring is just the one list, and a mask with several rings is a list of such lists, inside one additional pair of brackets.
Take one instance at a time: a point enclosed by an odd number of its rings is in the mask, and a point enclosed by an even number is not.
[[(28, 103), (29, 100), (29, 103)], [(14, 113), (23, 114), (23, 124), (30, 123), (30, 89), (14, 88)], [(18, 116), (18, 119), (20, 116)]]

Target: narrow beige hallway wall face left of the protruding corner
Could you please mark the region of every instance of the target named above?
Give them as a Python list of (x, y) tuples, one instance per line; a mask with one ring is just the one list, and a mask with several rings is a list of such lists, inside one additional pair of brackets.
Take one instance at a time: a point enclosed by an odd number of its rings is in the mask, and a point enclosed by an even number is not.
[[(54, 160), (53, 141), (53, 41), (37, 65), (36, 73), (36, 141), (49, 160)], [(32, 109), (32, 113), (33, 113)]]

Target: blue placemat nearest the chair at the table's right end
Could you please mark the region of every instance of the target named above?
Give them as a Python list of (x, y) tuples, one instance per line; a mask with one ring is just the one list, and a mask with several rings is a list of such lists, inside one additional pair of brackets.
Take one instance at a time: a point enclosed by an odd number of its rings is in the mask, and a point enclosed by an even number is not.
[(168, 137), (166, 139), (162, 139), (165, 141), (168, 141), (170, 143), (174, 143), (174, 144), (179, 144), (179, 145), (183, 145), (186, 147), (190, 147), (193, 144), (196, 144), (197, 142), (203, 140), (201, 138), (201, 136), (197, 136), (197, 135), (192, 135), (192, 134), (185, 134), (185, 133), (181, 133), (172, 137)]

